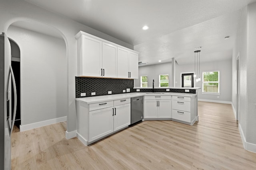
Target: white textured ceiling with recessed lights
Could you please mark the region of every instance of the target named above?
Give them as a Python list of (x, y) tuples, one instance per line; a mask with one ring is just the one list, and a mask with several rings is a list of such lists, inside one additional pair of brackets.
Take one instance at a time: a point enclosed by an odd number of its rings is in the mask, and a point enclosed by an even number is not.
[[(126, 43), (139, 60), (156, 64), (176, 58), (191, 63), (202, 46), (202, 62), (232, 56), (241, 9), (256, 0), (26, 0)], [(142, 26), (148, 25), (144, 31)], [(230, 39), (224, 41), (229, 35)]]

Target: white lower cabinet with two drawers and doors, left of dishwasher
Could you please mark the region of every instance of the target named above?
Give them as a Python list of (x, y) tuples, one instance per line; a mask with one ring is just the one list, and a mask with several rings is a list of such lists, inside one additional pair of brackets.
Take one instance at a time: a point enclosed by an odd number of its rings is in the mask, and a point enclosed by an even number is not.
[(130, 98), (86, 104), (76, 101), (78, 138), (88, 145), (131, 124)]

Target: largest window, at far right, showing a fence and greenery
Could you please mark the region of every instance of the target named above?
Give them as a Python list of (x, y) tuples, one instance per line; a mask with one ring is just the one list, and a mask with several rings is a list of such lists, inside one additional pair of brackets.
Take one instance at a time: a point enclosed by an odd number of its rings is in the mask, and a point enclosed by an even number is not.
[(202, 92), (205, 93), (220, 93), (220, 72), (212, 71), (212, 72), (203, 72), (202, 78)]

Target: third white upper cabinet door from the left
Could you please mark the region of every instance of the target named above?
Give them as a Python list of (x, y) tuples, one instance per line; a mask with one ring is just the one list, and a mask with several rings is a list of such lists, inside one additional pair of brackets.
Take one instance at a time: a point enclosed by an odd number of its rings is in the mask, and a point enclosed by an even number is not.
[(129, 70), (129, 51), (117, 48), (117, 77), (128, 78)]

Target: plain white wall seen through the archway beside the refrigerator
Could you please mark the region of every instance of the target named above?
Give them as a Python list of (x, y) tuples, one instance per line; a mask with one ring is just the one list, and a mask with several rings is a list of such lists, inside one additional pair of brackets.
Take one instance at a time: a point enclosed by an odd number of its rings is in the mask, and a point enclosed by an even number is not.
[(7, 34), (20, 47), (21, 125), (67, 116), (64, 40), (13, 26)]

